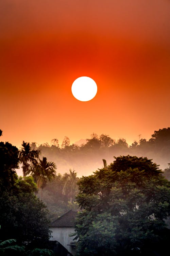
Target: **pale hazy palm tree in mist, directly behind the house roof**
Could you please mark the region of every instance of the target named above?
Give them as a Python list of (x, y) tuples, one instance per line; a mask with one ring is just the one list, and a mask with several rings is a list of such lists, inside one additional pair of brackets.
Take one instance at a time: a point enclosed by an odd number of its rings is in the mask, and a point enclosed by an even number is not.
[(65, 172), (65, 174), (63, 175), (64, 186), (62, 194), (67, 194), (68, 196), (70, 196), (70, 203), (72, 203), (73, 197), (78, 192), (77, 182), (79, 178), (77, 177), (77, 172), (75, 172), (75, 170), (71, 171), (70, 169), (69, 171), (70, 173)]

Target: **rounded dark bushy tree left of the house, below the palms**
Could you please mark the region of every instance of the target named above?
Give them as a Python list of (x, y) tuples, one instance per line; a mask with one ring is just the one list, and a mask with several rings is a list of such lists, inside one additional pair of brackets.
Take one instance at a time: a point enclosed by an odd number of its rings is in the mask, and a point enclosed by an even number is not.
[(20, 177), (13, 190), (1, 194), (0, 240), (14, 238), (17, 244), (48, 241), (50, 237), (48, 211), (35, 196), (36, 184), (32, 177)]

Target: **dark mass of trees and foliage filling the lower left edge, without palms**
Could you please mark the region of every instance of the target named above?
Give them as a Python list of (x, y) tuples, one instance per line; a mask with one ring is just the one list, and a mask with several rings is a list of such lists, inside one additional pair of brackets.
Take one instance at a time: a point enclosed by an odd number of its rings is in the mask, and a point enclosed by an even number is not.
[[(33, 178), (16, 174), (18, 153), (15, 146), (0, 142), (1, 255), (26, 255), (26, 245), (28, 248), (43, 247), (50, 237), (48, 211), (35, 196), (37, 186)], [(49, 253), (44, 255), (53, 255)], [(27, 255), (34, 254), (30, 251)]]

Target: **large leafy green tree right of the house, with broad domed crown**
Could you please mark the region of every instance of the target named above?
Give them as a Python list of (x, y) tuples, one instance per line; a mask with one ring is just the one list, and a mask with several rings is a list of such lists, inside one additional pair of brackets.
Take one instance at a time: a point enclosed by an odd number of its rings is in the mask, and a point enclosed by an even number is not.
[(146, 157), (115, 159), (78, 182), (77, 255), (164, 255), (170, 183)]

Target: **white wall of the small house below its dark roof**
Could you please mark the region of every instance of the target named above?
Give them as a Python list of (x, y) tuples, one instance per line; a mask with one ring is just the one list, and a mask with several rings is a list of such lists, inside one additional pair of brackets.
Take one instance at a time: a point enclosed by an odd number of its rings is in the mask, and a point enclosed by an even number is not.
[(72, 227), (66, 227), (66, 228), (50, 228), (50, 230), (52, 231), (51, 235), (52, 237), (50, 238), (50, 240), (52, 241), (58, 241), (59, 243), (61, 243), (71, 254), (75, 254), (75, 249), (67, 244), (70, 244), (70, 242), (73, 241), (74, 237), (70, 237), (69, 235), (74, 233), (74, 228)]

